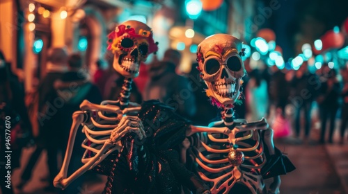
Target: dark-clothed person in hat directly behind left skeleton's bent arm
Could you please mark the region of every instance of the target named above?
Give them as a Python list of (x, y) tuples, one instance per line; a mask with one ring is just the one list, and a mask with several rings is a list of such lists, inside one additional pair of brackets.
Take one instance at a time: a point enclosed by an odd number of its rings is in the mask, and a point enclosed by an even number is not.
[[(47, 127), (49, 128), (42, 135), (49, 140), (46, 144), (47, 157), (50, 175), (52, 175), (50, 182), (53, 183), (54, 177), (58, 174), (57, 154), (61, 152), (64, 156), (66, 146), (68, 145), (72, 114), (80, 110), (79, 105), (84, 100), (100, 104), (102, 95), (97, 86), (90, 82), (86, 71), (84, 71), (82, 58), (77, 53), (69, 56), (68, 71), (54, 82), (54, 91), (52, 92), (52, 98), (49, 99), (49, 103), (54, 104), (55, 101), (59, 101), (60, 106), (56, 107), (56, 114), (47, 121)], [(85, 138), (86, 136), (79, 130), (76, 134), (68, 174), (76, 171), (82, 165), (81, 157), (84, 149), (81, 148), (81, 143)], [(79, 177), (77, 181), (65, 188), (64, 193), (79, 193), (78, 188), (81, 187), (83, 181), (84, 176)]]

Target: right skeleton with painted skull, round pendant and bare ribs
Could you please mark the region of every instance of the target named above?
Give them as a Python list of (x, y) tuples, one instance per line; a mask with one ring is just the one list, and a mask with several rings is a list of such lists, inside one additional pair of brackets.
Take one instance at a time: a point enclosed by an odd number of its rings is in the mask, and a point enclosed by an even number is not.
[(264, 179), (269, 177), (274, 182), (268, 193), (279, 193), (279, 175), (294, 166), (275, 148), (273, 130), (264, 118), (248, 123), (233, 117), (246, 74), (242, 55), (242, 42), (231, 35), (212, 35), (198, 45), (198, 70), (207, 96), (223, 112), (221, 121), (192, 126), (187, 132), (191, 154), (212, 193), (264, 193)]

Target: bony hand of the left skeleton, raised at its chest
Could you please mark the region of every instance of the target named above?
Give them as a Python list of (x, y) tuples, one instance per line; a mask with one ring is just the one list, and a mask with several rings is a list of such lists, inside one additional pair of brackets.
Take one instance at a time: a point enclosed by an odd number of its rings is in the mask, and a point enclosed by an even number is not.
[(143, 123), (138, 116), (123, 116), (118, 126), (111, 132), (110, 139), (116, 143), (129, 132), (136, 133), (140, 140), (146, 138)]

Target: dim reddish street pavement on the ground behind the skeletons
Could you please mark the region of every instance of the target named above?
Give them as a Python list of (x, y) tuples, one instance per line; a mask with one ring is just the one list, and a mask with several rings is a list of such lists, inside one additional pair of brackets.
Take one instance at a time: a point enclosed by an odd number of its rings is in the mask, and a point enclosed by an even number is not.
[[(348, 140), (345, 144), (338, 143), (338, 130), (335, 133), (333, 144), (317, 143), (319, 130), (313, 130), (308, 142), (299, 142), (297, 139), (276, 139), (275, 145), (290, 158), (296, 170), (287, 175), (282, 175), (280, 193), (282, 194), (348, 194)], [(22, 164), (26, 164), (33, 148), (23, 151)], [(49, 193), (43, 188), (47, 182), (46, 154), (44, 153), (37, 166), (33, 177), (22, 191), (15, 189), (15, 193), (41, 194)], [(14, 170), (13, 184), (19, 184), (19, 175), (22, 169)], [(97, 181), (95, 181), (97, 180)], [(270, 180), (267, 180), (269, 182)], [(81, 194), (102, 193), (106, 177), (90, 176), (88, 181), (79, 188)], [(58, 191), (58, 190), (57, 190)], [(54, 192), (58, 193), (58, 192)]]

